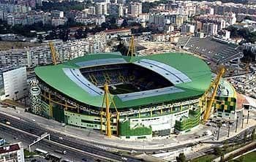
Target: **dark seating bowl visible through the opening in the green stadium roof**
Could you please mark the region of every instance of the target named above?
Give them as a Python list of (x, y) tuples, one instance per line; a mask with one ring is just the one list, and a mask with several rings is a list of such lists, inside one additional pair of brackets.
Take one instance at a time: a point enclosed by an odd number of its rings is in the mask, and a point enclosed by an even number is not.
[(132, 85), (137, 90), (152, 90), (171, 85), (165, 78), (159, 77), (159, 74), (129, 63), (94, 66), (80, 69), (80, 72), (99, 88), (103, 88), (105, 82), (116, 87)]

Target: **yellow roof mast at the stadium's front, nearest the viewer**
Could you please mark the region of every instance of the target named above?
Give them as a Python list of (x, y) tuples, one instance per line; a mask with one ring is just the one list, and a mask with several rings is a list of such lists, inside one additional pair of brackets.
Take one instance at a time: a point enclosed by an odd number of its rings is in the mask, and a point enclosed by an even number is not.
[[(100, 121), (101, 121), (101, 133), (103, 133), (103, 130), (102, 130), (102, 125), (103, 125), (103, 115), (105, 115), (105, 126), (106, 126), (106, 136), (108, 137), (111, 137), (111, 123), (110, 123), (110, 118), (115, 116), (115, 115), (111, 115), (110, 114), (110, 104), (112, 103), (113, 106), (115, 107), (116, 109), (116, 104), (115, 102), (113, 101), (112, 97), (110, 96), (110, 92), (108, 90), (108, 83), (106, 82), (105, 85), (104, 85), (104, 90), (105, 90), (105, 93), (104, 93), (104, 97), (103, 97), (103, 102), (102, 102), (102, 111), (100, 112)], [(103, 112), (103, 106), (104, 106), (104, 103), (105, 103), (105, 112)], [(118, 130), (118, 121), (119, 121), (119, 112), (117, 111), (116, 109), (116, 130)], [(118, 134), (118, 131), (116, 131), (117, 134)]]

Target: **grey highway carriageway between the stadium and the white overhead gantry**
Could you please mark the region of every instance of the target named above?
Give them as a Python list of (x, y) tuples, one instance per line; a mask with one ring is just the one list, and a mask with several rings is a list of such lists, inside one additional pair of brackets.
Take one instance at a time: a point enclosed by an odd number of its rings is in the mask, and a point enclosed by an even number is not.
[[(124, 157), (124, 155), (110, 153), (107, 150), (104, 150), (99, 147), (95, 147), (93, 144), (89, 142), (84, 142), (79, 139), (75, 139), (74, 137), (64, 136), (63, 134), (59, 134), (59, 133), (50, 131), (46, 128), (42, 128), (37, 123), (31, 122), (31, 120), (28, 120), (26, 118), (10, 117), (9, 115), (4, 115), (0, 113), (0, 122), (6, 123), (7, 121), (11, 123), (10, 126), (12, 126), (13, 128), (17, 128), (29, 134), (40, 136), (45, 132), (48, 132), (48, 134), (50, 134), (51, 141), (57, 142), (59, 144), (64, 144), (67, 147), (72, 147), (77, 150), (81, 150), (83, 152), (89, 153), (89, 155), (94, 155), (94, 158), (98, 158), (98, 156), (101, 156), (101, 157), (105, 157), (105, 160), (111, 159), (112, 161), (126, 161), (122, 158)], [(23, 134), (22, 136), (26, 136), (26, 135)], [(132, 158), (129, 156), (125, 156), (125, 158), (127, 158), (127, 161), (139, 161), (137, 158)]]

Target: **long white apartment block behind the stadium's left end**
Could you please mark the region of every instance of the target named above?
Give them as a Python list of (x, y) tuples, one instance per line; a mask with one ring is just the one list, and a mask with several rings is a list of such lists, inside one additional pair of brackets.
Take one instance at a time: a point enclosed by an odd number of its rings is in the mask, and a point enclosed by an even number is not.
[[(57, 61), (67, 61), (87, 53), (102, 53), (105, 52), (106, 34), (102, 31), (86, 39), (57, 42), (54, 47)], [(34, 68), (49, 63), (52, 63), (52, 56), (48, 45), (0, 51), (0, 87), (3, 86), (3, 72), (23, 66)]]

